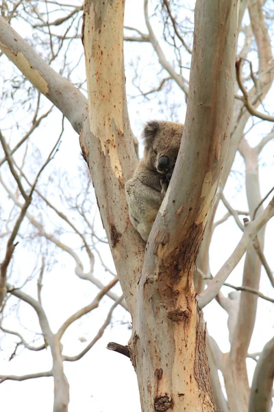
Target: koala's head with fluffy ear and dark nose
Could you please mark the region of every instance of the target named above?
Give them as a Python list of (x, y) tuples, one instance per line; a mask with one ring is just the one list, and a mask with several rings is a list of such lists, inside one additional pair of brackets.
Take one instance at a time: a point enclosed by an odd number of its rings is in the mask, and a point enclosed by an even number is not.
[(173, 122), (147, 122), (142, 137), (145, 140), (144, 161), (147, 168), (159, 173), (173, 170), (184, 125)]

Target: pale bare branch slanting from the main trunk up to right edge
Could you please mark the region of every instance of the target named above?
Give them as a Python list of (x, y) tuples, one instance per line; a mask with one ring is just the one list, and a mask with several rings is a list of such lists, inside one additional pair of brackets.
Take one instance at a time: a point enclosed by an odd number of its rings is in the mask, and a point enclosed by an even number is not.
[(255, 238), (258, 231), (260, 231), (260, 229), (262, 229), (266, 222), (268, 222), (273, 216), (274, 198), (256, 220), (245, 222), (244, 233), (242, 234), (242, 238), (240, 239), (240, 242), (238, 242), (236, 249), (227, 259), (225, 264), (223, 264), (216, 276), (212, 279), (212, 281), (208, 285), (208, 288), (206, 288), (206, 290), (204, 290), (201, 295), (197, 296), (197, 301), (201, 309), (208, 305), (210, 301), (214, 299), (217, 293), (219, 293), (219, 290), (225, 283), (225, 280), (230, 275), (230, 273), (232, 273), (238, 262), (240, 262), (240, 259), (245, 254), (245, 251), (247, 251), (247, 248), (249, 247), (249, 244), (251, 243), (253, 238)]

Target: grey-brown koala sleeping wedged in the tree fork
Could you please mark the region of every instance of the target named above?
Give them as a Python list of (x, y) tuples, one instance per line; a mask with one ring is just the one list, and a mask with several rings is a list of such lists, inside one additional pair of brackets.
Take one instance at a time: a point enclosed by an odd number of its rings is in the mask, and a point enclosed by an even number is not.
[(171, 180), (183, 127), (179, 123), (153, 121), (142, 131), (144, 158), (125, 184), (125, 192), (130, 220), (145, 242)]

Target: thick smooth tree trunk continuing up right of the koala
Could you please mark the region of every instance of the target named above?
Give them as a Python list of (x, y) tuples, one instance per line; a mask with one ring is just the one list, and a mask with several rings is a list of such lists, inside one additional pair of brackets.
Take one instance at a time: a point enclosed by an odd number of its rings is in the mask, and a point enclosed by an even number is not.
[(143, 412), (216, 410), (192, 280), (229, 145), (236, 27), (237, 3), (197, 1), (182, 146), (147, 242), (129, 343)]

